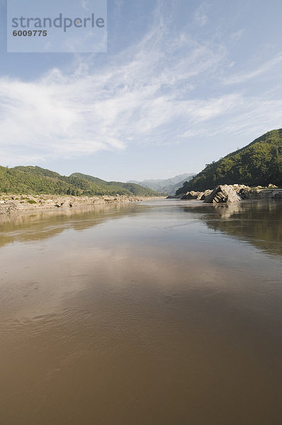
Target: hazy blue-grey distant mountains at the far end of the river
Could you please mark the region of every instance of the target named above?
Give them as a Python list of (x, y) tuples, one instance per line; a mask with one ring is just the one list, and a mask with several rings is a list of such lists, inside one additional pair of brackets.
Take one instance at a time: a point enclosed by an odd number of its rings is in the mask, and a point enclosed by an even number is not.
[(143, 181), (128, 181), (128, 183), (136, 183), (145, 188), (150, 188), (153, 191), (159, 193), (167, 193), (174, 195), (175, 191), (180, 188), (185, 181), (189, 181), (193, 178), (194, 174), (180, 174), (179, 176), (172, 177), (171, 179), (159, 179), (159, 180), (143, 180)]

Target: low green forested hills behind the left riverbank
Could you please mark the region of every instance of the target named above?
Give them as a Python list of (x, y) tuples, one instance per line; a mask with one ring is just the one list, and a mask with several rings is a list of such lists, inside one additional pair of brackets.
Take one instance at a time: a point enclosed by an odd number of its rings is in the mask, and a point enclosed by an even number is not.
[(74, 196), (159, 196), (134, 183), (105, 181), (93, 176), (74, 173), (61, 176), (39, 166), (0, 166), (0, 193), (30, 193)]

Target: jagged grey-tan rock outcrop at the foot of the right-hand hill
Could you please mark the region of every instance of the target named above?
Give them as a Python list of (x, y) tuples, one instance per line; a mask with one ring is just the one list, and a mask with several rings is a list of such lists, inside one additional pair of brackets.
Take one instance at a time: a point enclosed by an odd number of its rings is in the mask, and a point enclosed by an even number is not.
[(247, 199), (279, 199), (282, 198), (282, 189), (273, 184), (269, 184), (267, 188), (261, 186), (250, 188), (242, 184), (224, 184), (204, 192), (190, 191), (168, 198), (203, 200), (204, 203), (234, 203)]

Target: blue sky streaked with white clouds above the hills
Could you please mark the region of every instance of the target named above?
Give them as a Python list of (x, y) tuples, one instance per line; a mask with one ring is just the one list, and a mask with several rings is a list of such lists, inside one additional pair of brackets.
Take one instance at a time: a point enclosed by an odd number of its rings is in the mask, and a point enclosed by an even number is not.
[(168, 179), (282, 127), (281, 0), (108, 0), (107, 14), (105, 53), (7, 53), (0, 0), (1, 165)]

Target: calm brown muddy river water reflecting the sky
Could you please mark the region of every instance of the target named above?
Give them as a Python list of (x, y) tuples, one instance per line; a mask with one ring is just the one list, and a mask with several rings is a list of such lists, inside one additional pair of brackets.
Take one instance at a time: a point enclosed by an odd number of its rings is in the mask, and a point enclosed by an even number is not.
[(282, 423), (281, 201), (0, 229), (0, 424)]

